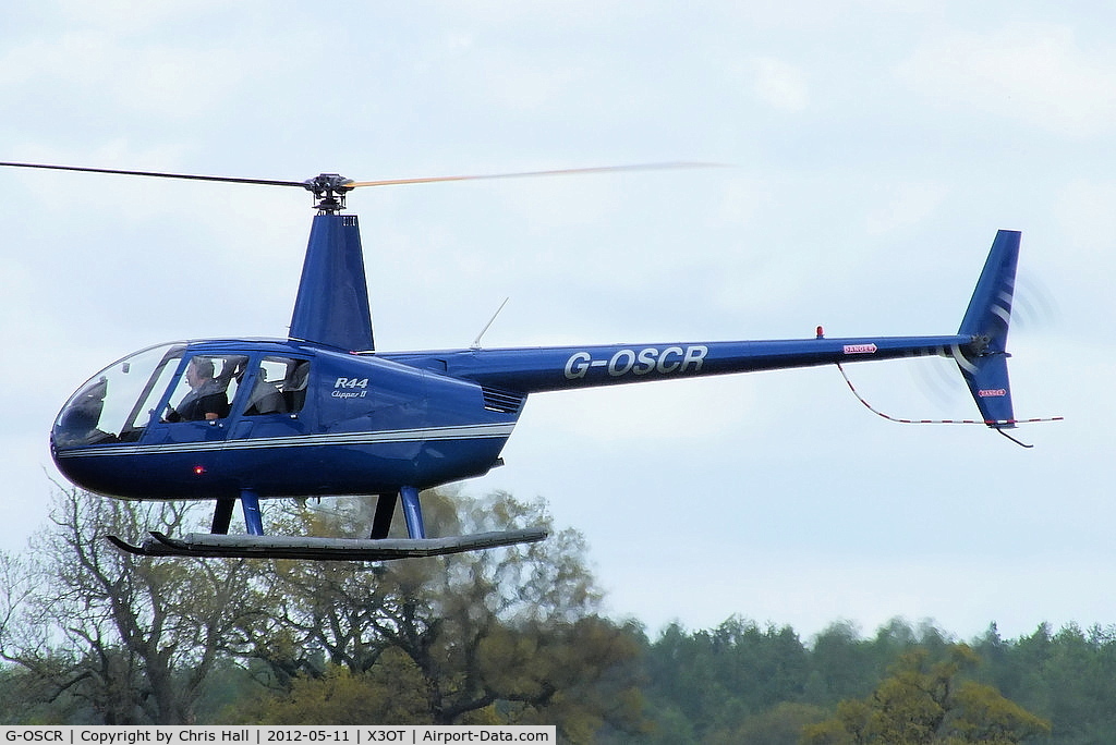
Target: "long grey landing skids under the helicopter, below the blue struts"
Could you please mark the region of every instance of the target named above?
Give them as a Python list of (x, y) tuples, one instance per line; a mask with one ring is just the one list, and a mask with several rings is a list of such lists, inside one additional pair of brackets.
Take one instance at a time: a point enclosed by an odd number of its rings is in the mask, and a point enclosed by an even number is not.
[(140, 545), (108, 540), (122, 551), (141, 557), (204, 557), (228, 559), (310, 559), (316, 561), (388, 561), (494, 549), (517, 543), (535, 543), (547, 536), (540, 528), (477, 533), (450, 538), (349, 539), (296, 538), (285, 535), (222, 535), (190, 533), (173, 539), (157, 531)]

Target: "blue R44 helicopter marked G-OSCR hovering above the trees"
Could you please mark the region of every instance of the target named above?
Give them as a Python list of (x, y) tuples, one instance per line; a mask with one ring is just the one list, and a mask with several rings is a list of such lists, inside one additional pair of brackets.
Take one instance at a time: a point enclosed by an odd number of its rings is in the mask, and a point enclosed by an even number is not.
[[(956, 361), (980, 410), (977, 422), (1006, 435), (1017, 425), (1006, 350), (1016, 231), (997, 233), (956, 333), (831, 339), (819, 328), (815, 338), (792, 340), (478, 344), (384, 352), (373, 341), (357, 217), (343, 213), (348, 192), (615, 168), (355, 182), (338, 174), (272, 181), (0, 165), (295, 186), (314, 194), (317, 214), (287, 339), (148, 347), (94, 375), (58, 414), (51, 455), (78, 486), (131, 500), (214, 503), (209, 533), (153, 531), (140, 545), (114, 539), (133, 553), (373, 561), (542, 540), (539, 529), (427, 538), (420, 503), (422, 490), (501, 465), (527, 398), (542, 391), (939, 355)], [(662, 166), (620, 170), (632, 167)], [(368, 538), (264, 535), (261, 500), (321, 495), (376, 495)], [(238, 502), (247, 534), (229, 532)], [(396, 504), (406, 539), (388, 538)]]

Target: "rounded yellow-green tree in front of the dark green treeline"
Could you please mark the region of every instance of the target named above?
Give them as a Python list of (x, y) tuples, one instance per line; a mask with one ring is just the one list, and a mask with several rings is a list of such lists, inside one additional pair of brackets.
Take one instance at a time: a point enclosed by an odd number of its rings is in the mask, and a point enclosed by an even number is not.
[(966, 680), (978, 661), (966, 645), (953, 645), (931, 661), (925, 649), (904, 654), (866, 699), (846, 699), (833, 718), (806, 728), (810, 745), (1009, 745), (1048, 734), (1050, 724), (1004, 698), (993, 687)]

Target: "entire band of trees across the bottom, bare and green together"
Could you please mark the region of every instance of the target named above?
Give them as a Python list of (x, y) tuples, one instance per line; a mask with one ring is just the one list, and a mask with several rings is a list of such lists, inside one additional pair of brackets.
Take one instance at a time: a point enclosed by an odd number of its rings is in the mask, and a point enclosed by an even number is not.
[[(270, 530), (362, 534), (371, 515), (347, 504), (287, 503)], [(507, 494), (432, 492), (424, 511), (439, 534), (550, 526), (542, 503)], [(1116, 627), (1004, 640), (993, 626), (961, 644), (896, 620), (868, 637), (836, 623), (804, 640), (733, 617), (648, 635), (600, 613), (571, 530), (384, 564), (146, 559), (105, 540), (206, 520), (59, 491), (29, 550), (0, 555), (0, 723), (556, 724), (570, 743), (1116, 742)]]

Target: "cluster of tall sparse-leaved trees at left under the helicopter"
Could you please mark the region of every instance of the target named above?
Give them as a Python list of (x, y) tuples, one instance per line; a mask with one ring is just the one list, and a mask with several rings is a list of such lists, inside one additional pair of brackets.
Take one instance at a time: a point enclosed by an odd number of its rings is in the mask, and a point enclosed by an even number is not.
[[(371, 510), (355, 504), (302, 504), (273, 522), (359, 534)], [(432, 532), (550, 522), (541, 503), (507, 494), (427, 493), (424, 507)], [(627, 627), (598, 615), (576, 531), (382, 565), (147, 559), (104, 540), (151, 528), (177, 533), (205, 517), (172, 504), (59, 494), (36, 560), (0, 555), (0, 655), (13, 664), (0, 688), (18, 680), (22, 694), (3, 715), (105, 724), (554, 722), (568, 742), (639, 732), (641, 647)]]

